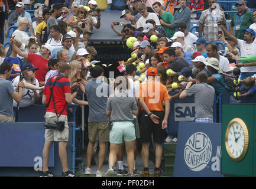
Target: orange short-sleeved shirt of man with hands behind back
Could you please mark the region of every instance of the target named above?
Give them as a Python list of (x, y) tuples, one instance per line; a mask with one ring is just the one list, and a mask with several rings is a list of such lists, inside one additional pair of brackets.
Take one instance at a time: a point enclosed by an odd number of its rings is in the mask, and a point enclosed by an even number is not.
[[(163, 101), (170, 99), (166, 86), (156, 82), (154, 79), (140, 85), (138, 99), (144, 99), (150, 111), (164, 111)], [(142, 110), (142, 109), (141, 109)]]

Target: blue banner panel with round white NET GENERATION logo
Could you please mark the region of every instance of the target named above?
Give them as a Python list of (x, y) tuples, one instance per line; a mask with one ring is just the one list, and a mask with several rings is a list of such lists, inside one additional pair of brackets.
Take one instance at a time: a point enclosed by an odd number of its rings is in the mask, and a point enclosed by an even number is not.
[(174, 177), (222, 177), (221, 123), (180, 122)]

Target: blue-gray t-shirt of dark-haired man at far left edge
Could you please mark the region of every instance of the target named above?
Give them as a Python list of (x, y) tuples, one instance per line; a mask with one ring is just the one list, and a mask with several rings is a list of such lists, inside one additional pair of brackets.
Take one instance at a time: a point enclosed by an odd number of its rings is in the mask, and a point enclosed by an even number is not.
[(9, 80), (0, 78), (0, 114), (5, 116), (14, 116), (13, 98), (14, 87)]

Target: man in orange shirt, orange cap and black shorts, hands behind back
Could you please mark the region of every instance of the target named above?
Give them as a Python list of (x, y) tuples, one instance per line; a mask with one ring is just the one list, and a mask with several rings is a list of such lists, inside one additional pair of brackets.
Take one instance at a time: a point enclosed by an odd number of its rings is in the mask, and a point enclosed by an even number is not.
[[(164, 141), (164, 129), (167, 128), (167, 119), (170, 112), (170, 100), (166, 87), (157, 82), (157, 70), (153, 67), (147, 70), (148, 82), (140, 85), (139, 101), (142, 107), (141, 113), (141, 156), (144, 164), (142, 177), (149, 177), (148, 155), (151, 134), (155, 144), (155, 171), (154, 177), (160, 177), (160, 164), (162, 158), (162, 146)], [(165, 111), (163, 108), (165, 103)]]

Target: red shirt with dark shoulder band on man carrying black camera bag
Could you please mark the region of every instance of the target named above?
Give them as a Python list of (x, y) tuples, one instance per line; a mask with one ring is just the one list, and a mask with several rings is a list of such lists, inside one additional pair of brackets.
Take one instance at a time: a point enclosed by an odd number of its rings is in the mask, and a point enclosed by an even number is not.
[[(53, 85), (54, 81), (59, 77), (60, 75), (54, 76), (53, 79), (51, 79), (51, 85)], [(48, 80), (49, 81), (49, 80)], [(51, 96), (51, 90), (49, 87), (49, 82), (46, 82), (46, 85), (44, 87), (43, 94), (46, 95), (46, 103), (48, 104), (48, 101)], [(69, 79), (66, 77), (61, 77), (61, 79), (57, 80), (54, 87), (53, 87), (53, 97), (55, 106), (57, 109), (57, 113), (60, 114), (63, 108), (66, 106), (66, 99), (65, 99), (65, 93), (71, 93), (70, 90), (70, 82)], [(49, 106), (46, 108), (46, 112), (53, 112), (54, 111), (54, 105), (53, 105), (53, 98), (51, 98)], [(67, 115), (67, 107), (61, 113), (61, 115)]]

